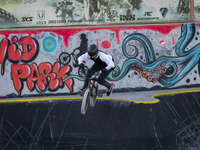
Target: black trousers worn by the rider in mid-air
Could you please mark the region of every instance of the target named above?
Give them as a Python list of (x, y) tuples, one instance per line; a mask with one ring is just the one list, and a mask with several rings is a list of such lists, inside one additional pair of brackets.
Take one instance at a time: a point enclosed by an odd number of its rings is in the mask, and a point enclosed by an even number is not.
[[(86, 74), (86, 77), (85, 77), (85, 82), (84, 82), (84, 85), (83, 85), (83, 88), (86, 88), (89, 84), (89, 78), (91, 78), (91, 76), (95, 73), (95, 72), (98, 72), (99, 70), (102, 70), (103, 68), (105, 68), (104, 66), (100, 66), (96, 63), (93, 64), (93, 66), (88, 70), (88, 73)], [(111, 84), (108, 83), (105, 79), (106, 77), (110, 74), (110, 72), (113, 70), (110, 69), (110, 70), (103, 70), (101, 72), (101, 74), (99, 75), (98, 77), (98, 80), (97, 82), (101, 85), (104, 85), (105, 87), (107, 88), (110, 88)]]

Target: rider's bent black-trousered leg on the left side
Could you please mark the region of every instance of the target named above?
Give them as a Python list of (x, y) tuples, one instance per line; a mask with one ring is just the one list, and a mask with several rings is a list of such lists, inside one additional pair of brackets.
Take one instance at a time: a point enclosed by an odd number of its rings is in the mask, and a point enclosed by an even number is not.
[(93, 64), (93, 66), (88, 70), (88, 72), (87, 72), (87, 74), (86, 74), (86, 76), (85, 76), (85, 81), (84, 81), (84, 84), (83, 84), (82, 89), (85, 89), (85, 88), (88, 86), (88, 84), (89, 84), (89, 78), (91, 78), (91, 76), (92, 76), (95, 72), (97, 72), (97, 71), (99, 71), (99, 70), (101, 70), (101, 69), (102, 69), (101, 66), (99, 66), (99, 65), (97, 65), (97, 64)]

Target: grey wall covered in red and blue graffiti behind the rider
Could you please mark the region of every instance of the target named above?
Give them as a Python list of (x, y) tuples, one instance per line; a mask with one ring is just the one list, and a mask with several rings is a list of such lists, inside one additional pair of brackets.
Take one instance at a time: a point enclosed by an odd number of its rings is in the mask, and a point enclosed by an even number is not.
[(93, 64), (77, 58), (94, 43), (114, 57), (114, 90), (198, 86), (199, 38), (200, 24), (1, 31), (0, 95), (75, 94)]

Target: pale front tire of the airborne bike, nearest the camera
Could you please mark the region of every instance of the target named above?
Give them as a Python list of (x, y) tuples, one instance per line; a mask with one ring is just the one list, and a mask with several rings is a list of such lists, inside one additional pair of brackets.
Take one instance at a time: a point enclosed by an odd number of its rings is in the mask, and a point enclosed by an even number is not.
[(89, 89), (86, 89), (84, 94), (83, 94), (83, 100), (81, 104), (81, 114), (85, 115), (89, 103), (89, 98), (90, 98), (90, 91)]

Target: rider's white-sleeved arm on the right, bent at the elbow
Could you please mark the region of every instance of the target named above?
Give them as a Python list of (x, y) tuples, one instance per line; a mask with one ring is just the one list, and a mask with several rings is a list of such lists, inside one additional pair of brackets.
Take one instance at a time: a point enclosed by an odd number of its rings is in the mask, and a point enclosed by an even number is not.
[(112, 56), (106, 55), (105, 53), (99, 53), (99, 58), (107, 64), (106, 69), (110, 70), (111, 68), (115, 67), (115, 64), (112, 60)]

